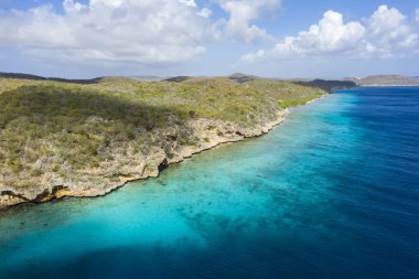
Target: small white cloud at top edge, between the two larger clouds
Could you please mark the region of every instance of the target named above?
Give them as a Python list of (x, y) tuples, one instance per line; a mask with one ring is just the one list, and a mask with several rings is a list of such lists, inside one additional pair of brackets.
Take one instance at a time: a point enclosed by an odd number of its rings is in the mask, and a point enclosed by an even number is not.
[(281, 0), (217, 0), (217, 2), (229, 13), (226, 28), (233, 36), (246, 42), (271, 37), (266, 30), (253, 22), (265, 12), (278, 10)]

